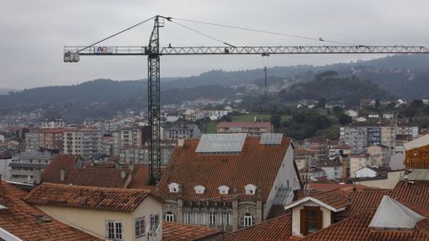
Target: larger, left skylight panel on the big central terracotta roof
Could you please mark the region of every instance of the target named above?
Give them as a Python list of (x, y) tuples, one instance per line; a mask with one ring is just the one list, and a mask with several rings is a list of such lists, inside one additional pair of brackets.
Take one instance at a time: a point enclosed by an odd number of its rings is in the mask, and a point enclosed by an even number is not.
[(240, 153), (246, 133), (204, 134), (199, 140), (197, 153)]

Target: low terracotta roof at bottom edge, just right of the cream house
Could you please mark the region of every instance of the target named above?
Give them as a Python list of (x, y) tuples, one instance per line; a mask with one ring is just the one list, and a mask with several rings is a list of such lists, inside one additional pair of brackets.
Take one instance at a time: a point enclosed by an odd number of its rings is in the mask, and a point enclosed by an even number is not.
[(222, 230), (204, 226), (186, 225), (177, 222), (163, 222), (163, 241), (194, 241), (222, 234)]

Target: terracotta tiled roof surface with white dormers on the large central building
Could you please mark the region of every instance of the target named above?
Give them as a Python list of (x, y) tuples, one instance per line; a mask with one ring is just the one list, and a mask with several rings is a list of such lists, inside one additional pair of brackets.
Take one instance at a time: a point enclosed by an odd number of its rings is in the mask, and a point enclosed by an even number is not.
[[(283, 137), (281, 145), (260, 145), (258, 137), (248, 137), (240, 154), (208, 155), (195, 152), (198, 139), (187, 139), (183, 147), (176, 146), (160, 182), (164, 199), (202, 200), (219, 196), (218, 187), (234, 187), (238, 194), (245, 193), (245, 186), (259, 186), (265, 202), (273, 181), (281, 168), (282, 159), (290, 148), (290, 138)], [(181, 194), (171, 194), (170, 183), (181, 185)], [(194, 187), (206, 187), (204, 194), (196, 194)], [(255, 199), (257, 195), (247, 195)]]

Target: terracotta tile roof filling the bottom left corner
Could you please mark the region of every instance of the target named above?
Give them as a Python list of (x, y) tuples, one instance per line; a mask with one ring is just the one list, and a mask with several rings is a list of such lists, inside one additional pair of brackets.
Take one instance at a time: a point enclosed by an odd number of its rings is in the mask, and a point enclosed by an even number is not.
[[(22, 240), (102, 240), (51, 218), (46, 213), (21, 200), (27, 193), (2, 181), (0, 227)], [(38, 217), (46, 218), (46, 221)], [(49, 221), (51, 220), (51, 221)], [(0, 238), (1, 239), (1, 238)]]

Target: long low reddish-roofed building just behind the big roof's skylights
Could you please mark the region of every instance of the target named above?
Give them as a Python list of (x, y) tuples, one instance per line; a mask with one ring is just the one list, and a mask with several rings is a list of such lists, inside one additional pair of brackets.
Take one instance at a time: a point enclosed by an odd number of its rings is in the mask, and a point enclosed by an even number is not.
[(273, 125), (270, 122), (220, 122), (217, 133), (247, 133), (249, 137), (261, 137), (263, 133), (273, 133)]

